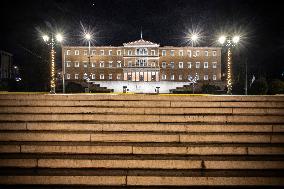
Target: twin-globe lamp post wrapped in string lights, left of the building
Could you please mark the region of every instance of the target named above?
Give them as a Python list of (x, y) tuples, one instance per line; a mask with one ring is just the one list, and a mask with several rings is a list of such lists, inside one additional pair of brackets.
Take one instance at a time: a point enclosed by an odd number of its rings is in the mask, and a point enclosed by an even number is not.
[(43, 35), (42, 39), (44, 42), (46, 42), (48, 45), (51, 47), (51, 80), (50, 80), (50, 93), (55, 94), (55, 87), (56, 87), (56, 82), (55, 82), (55, 50), (54, 46), (56, 44), (56, 41), (61, 43), (63, 41), (63, 36), (61, 34), (56, 34), (55, 36), (56, 40), (54, 39), (54, 34), (51, 33), (51, 40), (49, 40), (48, 35)]

